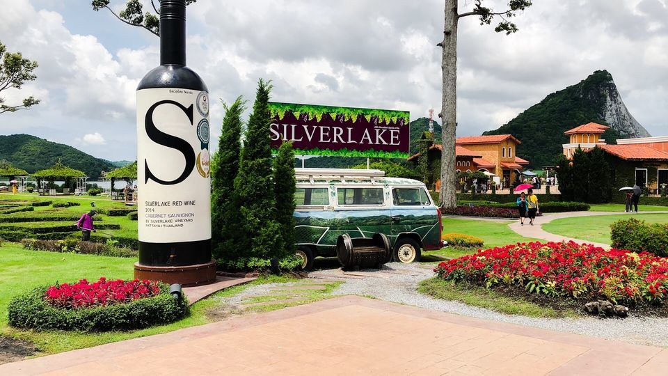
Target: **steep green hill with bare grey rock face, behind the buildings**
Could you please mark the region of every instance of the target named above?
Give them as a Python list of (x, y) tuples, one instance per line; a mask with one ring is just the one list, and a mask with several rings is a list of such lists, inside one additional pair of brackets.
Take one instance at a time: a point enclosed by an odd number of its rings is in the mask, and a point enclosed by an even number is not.
[(545, 97), (538, 104), (520, 113), (498, 130), (484, 134), (512, 134), (522, 144), (518, 157), (528, 159), (534, 169), (554, 165), (568, 142), (564, 132), (589, 122), (610, 125), (603, 134), (607, 143), (621, 137), (649, 136), (626, 109), (612, 75), (597, 70), (580, 81)]

